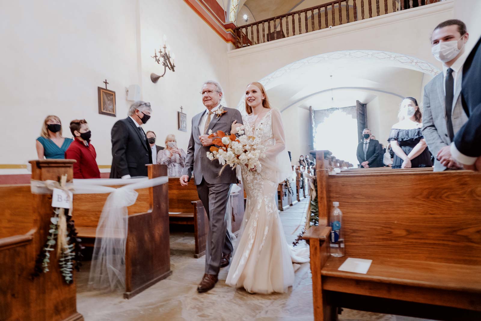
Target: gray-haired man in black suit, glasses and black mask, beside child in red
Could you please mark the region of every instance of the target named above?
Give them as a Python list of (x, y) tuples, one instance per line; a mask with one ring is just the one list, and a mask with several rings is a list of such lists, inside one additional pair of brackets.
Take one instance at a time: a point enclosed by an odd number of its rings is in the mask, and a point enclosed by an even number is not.
[(151, 113), (150, 103), (135, 102), (128, 110), (128, 117), (112, 127), (111, 179), (148, 175), (145, 165), (152, 164), (152, 152), (140, 125), (149, 120)]

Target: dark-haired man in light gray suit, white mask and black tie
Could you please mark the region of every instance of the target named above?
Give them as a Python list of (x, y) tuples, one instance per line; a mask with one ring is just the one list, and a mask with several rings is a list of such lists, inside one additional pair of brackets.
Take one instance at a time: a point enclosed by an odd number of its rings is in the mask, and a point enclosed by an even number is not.
[(431, 36), (431, 52), (443, 63), (438, 74), (424, 87), (422, 133), (434, 156), (434, 171), (459, 169), (449, 145), (456, 132), (468, 121), (461, 103), (464, 44), (468, 41), (466, 25), (456, 19), (436, 26)]

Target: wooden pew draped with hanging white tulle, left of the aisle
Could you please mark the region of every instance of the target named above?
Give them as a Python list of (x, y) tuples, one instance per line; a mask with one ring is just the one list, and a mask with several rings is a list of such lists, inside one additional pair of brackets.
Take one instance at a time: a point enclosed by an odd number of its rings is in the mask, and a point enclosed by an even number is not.
[[(149, 179), (167, 176), (165, 165), (148, 165)], [(113, 186), (120, 187), (120, 186)], [(139, 196), (128, 207), (126, 244), (126, 289), (129, 299), (172, 274), (170, 270), (168, 186), (137, 190)], [(103, 205), (109, 194), (74, 196), (74, 219), (78, 237), (93, 246)]]

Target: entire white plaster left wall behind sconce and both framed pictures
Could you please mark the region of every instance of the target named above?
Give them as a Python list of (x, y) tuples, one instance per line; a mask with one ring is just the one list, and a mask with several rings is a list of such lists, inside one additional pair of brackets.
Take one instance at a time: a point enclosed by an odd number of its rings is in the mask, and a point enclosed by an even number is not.
[[(161, 145), (174, 133), (187, 148), (191, 117), (203, 109), (202, 82), (213, 78), (229, 87), (226, 43), (184, 1), (2, 1), (0, 24), (0, 125), (6, 133), (0, 164), (36, 159), (35, 140), (53, 114), (66, 137), (72, 119), (87, 119), (97, 163), (110, 165), (110, 130), (127, 116), (131, 84), (152, 104), (143, 128), (154, 130)], [(164, 34), (176, 53), (176, 72), (153, 84), (150, 73), (164, 70), (150, 56)], [(116, 92), (117, 117), (98, 114), (97, 87), (105, 78)], [(181, 105), (187, 133), (177, 130)]]

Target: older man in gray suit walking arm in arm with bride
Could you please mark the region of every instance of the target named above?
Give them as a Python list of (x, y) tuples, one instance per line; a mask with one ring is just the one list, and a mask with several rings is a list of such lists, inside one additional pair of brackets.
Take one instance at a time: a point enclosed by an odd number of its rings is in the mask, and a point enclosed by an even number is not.
[[(227, 230), (226, 205), (232, 183), (237, 182), (236, 172), (226, 167), (221, 175), (222, 165), (207, 158), (212, 143), (208, 132), (222, 130), (230, 133), (232, 123), (242, 124), (241, 113), (237, 109), (226, 108), (220, 104), (222, 88), (216, 81), (207, 81), (202, 87), (202, 102), (206, 107), (203, 112), (192, 118), (189, 148), (185, 158), (185, 167), (180, 177), (180, 184), (187, 186), (194, 172), (197, 193), (209, 217), (209, 231), (205, 251), (205, 274), (197, 291), (199, 293), (212, 289), (217, 282), (220, 268), (229, 264), (233, 251)], [(218, 115), (215, 111), (224, 110)]]

